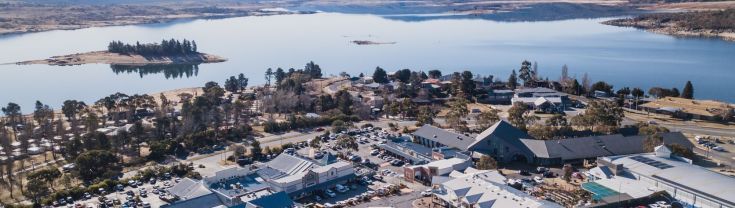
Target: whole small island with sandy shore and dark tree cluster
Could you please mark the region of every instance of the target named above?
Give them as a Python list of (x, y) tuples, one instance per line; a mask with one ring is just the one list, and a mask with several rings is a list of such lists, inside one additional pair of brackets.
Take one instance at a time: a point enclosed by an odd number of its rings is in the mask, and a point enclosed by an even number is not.
[(161, 43), (126, 44), (112, 41), (107, 51), (93, 51), (63, 56), (53, 56), (43, 60), (17, 62), (16, 64), (48, 64), (56, 66), (81, 64), (200, 64), (224, 62), (227, 59), (200, 53), (195, 41), (163, 40)]

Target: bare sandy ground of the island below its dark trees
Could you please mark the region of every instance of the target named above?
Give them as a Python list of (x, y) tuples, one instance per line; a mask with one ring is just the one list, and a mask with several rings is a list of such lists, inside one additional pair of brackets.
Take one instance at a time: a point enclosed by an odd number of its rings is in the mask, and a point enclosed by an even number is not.
[(107, 51), (93, 51), (77, 53), (64, 56), (53, 56), (43, 60), (31, 60), (16, 62), (18, 65), (25, 64), (48, 64), (55, 66), (80, 65), (80, 64), (117, 64), (117, 65), (145, 65), (145, 64), (198, 64), (224, 62), (227, 59), (206, 53), (175, 56), (142, 56), (137, 54), (127, 55), (111, 53)]

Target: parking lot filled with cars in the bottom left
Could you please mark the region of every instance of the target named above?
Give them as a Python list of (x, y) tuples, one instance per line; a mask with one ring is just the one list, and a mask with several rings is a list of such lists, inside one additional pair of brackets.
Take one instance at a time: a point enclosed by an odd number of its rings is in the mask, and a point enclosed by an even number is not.
[[(166, 189), (174, 186), (179, 178), (136, 181), (118, 186), (114, 192), (90, 194), (90, 197), (67, 204), (67, 207), (161, 207), (167, 204), (162, 198), (167, 196)], [(122, 188), (122, 189), (120, 189)]]

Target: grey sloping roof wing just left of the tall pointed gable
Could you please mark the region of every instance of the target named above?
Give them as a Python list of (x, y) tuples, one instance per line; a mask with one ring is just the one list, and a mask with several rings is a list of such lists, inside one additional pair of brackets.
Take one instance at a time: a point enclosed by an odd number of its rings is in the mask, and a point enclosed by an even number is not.
[(450, 132), (428, 124), (416, 130), (413, 135), (461, 150), (468, 150), (475, 143), (475, 139), (472, 137)]

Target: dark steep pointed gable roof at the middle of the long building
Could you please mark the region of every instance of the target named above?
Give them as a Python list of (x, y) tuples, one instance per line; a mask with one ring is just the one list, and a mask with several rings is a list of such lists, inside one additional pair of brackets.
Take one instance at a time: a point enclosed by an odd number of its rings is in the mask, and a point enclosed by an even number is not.
[(488, 139), (499, 139), (505, 143), (512, 145), (520, 150), (528, 150), (520, 139), (533, 138), (526, 134), (526, 132), (514, 127), (510, 123), (504, 120), (500, 120), (488, 129), (485, 129), (482, 133), (477, 135), (475, 143), (480, 141), (486, 141)]

